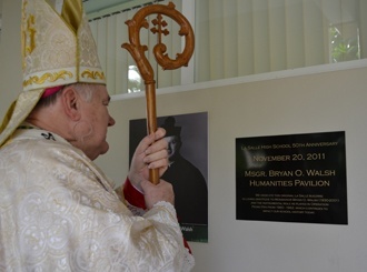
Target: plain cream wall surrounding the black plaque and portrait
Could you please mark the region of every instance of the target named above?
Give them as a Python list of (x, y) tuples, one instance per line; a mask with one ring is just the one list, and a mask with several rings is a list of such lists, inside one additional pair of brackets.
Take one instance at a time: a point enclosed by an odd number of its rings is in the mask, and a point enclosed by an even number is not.
[[(4, 0), (1, 114), (21, 90), (19, 2)], [(9, 13), (8, 13), (9, 12)], [(8, 31), (8, 32), (6, 32)], [(159, 115), (208, 112), (209, 243), (190, 243), (204, 272), (365, 272), (367, 269), (367, 68), (161, 94)], [(111, 149), (98, 163), (116, 181), (128, 169), (129, 120), (145, 98), (113, 101)], [(348, 225), (236, 220), (235, 139), (346, 131)]]

